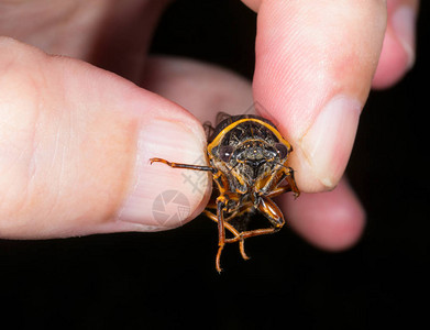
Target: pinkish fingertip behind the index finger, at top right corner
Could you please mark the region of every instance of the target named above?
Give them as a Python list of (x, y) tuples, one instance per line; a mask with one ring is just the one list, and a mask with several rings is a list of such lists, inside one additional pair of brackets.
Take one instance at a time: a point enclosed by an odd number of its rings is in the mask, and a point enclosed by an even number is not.
[(397, 82), (415, 63), (415, 34), (418, 0), (388, 0), (388, 22), (374, 88)]

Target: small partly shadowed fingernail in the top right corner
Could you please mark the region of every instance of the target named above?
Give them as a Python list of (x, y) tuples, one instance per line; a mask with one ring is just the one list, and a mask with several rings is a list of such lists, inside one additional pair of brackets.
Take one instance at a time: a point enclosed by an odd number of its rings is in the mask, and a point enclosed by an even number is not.
[(416, 12), (409, 6), (400, 6), (392, 16), (392, 25), (408, 56), (408, 67), (415, 63)]

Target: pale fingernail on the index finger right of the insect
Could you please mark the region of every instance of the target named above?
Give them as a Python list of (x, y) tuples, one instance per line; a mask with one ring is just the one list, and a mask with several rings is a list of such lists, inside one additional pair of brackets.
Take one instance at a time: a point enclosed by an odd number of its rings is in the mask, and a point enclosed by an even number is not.
[(345, 170), (361, 110), (359, 100), (337, 96), (321, 110), (301, 139), (306, 162), (324, 188), (333, 188)]

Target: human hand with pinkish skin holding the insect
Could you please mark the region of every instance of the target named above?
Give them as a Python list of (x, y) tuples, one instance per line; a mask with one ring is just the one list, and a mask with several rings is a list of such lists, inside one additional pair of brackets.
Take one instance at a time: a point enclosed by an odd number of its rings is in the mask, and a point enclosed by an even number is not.
[[(210, 177), (196, 194), (181, 170), (148, 158), (203, 158), (201, 122), (257, 101), (295, 150), (305, 194), (279, 199), (287, 223), (322, 249), (354, 244), (365, 212), (343, 173), (370, 89), (390, 87), (414, 64), (418, 1), (243, 1), (257, 12), (252, 84), (147, 56), (167, 2), (0, 1), (0, 237), (154, 231), (194, 219)], [(152, 215), (168, 189), (189, 201), (184, 221)]]

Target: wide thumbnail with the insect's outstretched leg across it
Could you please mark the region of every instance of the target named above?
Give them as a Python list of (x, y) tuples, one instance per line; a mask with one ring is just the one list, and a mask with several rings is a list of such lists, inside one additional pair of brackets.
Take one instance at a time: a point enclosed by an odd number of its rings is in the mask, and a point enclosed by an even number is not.
[(194, 215), (208, 189), (208, 174), (172, 168), (150, 158), (205, 164), (205, 135), (175, 120), (145, 122), (137, 139), (135, 173), (119, 220), (142, 231), (176, 228)]

